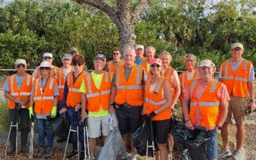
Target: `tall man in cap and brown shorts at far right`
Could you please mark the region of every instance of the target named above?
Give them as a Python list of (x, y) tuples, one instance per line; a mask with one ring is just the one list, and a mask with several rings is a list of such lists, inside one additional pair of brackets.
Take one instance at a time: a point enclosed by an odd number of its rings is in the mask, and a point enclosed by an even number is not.
[[(233, 159), (246, 159), (243, 149), (245, 139), (245, 111), (247, 108), (246, 98), (250, 97), (250, 109), (255, 109), (254, 91), (254, 68), (252, 62), (242, 58), (244, 47), (241, 43), (231, 45), (230, 53), (232, 58), (221, 64), (219, 81), (223, 82), (228, 89), (230, 102), (228, 103), (228, 116), (221, 130), (223, 140), (223, 151), (219, 154), (220, 158), (231, 156), (229, 148), (230, 121), (232, 113), (236, 121), (236, 152)], [(248, 94), (249, 93), (249, 94)]]

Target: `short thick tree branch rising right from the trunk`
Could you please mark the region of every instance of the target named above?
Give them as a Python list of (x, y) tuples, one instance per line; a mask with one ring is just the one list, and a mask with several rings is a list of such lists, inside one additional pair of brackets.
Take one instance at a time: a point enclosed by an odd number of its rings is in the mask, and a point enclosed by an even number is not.
[(132, 23), (135, 24), (140, 19), (143, 11), (148, 6), (151, 0), (141, 0), (132, 10)]

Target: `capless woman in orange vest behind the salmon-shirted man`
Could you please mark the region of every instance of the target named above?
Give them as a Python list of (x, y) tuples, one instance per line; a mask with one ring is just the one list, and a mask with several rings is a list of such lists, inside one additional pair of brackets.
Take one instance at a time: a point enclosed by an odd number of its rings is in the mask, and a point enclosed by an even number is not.
[(183, 102), (185, 88), (188, 87), (190, 81), (194, 79), (198, 79), (200, 74), (196, 69), (196, 56), (194, 54), (186, 54), (184, 56), (183, 64), (186, 67), (186, 71), (182, 72), (179, 75), (180, 79), (180, 87), (181, 87), (181, 94), (180, 94), (180, 102)]

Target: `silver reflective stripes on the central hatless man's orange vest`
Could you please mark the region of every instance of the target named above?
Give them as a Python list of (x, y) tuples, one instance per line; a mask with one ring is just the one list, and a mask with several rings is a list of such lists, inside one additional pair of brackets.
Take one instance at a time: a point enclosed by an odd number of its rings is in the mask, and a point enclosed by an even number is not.
[(120, 72), (121, 72), (121, 65), (118, 67), (117, 70), (117, 77), (116, 77), (116, 88), (118, 90), (126, 89), (126, 90), (138, 90), (142, 88), (140, 86), (140, 66), (137, 65), (137, 73), (136, 73), (136, 84), (134, 86), (120, 86)]

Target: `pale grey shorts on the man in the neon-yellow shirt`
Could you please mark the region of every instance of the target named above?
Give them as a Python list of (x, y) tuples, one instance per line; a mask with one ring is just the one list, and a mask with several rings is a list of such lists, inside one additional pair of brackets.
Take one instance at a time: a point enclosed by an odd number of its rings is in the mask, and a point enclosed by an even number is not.
[(88, 136), (90, 138), (98, 138), (101, 135), (101, 132), (103, 136), (108, 136), (109, 118), (110, 118), (110, 115), (100, 116), (100, 117), (89, 116), (88, 117)]

